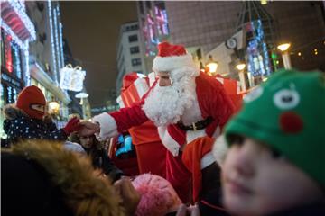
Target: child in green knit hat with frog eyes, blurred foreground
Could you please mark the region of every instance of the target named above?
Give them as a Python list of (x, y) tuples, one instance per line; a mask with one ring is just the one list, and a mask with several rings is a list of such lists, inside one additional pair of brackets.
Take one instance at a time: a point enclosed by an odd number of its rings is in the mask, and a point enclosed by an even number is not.
[(325, 78), (282, 70), (225, 129), (223, 202), (234, 215), (325, 215)]

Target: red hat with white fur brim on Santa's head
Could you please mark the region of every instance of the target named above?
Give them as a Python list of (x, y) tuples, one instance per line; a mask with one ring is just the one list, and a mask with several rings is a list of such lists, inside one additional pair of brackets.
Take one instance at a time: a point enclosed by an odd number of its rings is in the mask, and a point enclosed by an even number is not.
[(190, 53), (182, 45), (162, 42), (158, 45), (158, 55), (153, 59), (154, 72), (170, 72), (172, 77), (199, 76), (200, 69)]

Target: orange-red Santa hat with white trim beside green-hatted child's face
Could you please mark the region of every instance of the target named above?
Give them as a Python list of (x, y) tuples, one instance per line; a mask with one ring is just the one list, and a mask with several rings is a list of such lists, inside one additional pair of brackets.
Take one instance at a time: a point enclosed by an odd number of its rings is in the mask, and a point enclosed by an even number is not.
[(182, 153), (182, 162), (192, 174), (193, 201), (198, 201), (202, 187), (201, 170), (215, 162), (211, 148), (215, 139), (202, 137), (186, 145)]

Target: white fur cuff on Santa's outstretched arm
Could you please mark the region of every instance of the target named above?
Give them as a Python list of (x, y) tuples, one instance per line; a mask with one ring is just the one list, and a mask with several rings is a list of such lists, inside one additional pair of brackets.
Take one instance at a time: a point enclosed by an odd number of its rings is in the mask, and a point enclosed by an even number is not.
[(98, 122), (100, 125), (100, 133), (97, 134), (99, 140), (105, 140), (118, 135), (116, 121), (107, 112), (96, 115), (92, 121)]

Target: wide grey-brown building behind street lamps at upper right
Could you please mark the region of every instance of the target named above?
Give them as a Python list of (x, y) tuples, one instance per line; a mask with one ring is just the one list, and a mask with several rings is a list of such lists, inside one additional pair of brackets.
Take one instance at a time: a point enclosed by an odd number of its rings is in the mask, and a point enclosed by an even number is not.
[[(184, 44), (198, 63), (202, 63), (201, 67), (208, 63), (209, 56), (217, 61), (220, 57), (228, 58), (228, 71), (221, 72), (220, 69), (227, 67), (218, 67), (219, 74), (238, 78), (234, 68), (236, 61), (245, 61), (246, 70), (258, 76), (257, 79), (253, 78), (253, 85), (258, 84), (263, 76), (283, 67), (281, 53), (276, 47), (284, 41), (291, 43), (292, 67), (311, 70), (324, 64), (325, 13), (322, 2), (167, 1), (165, 6), (171, 31), (170, 41)], [(225, 51), (228, 40), (239, 31), (243, 31), (241, 40), (245, 40), (244, 48)], [(259, 40), (260, 54), (255, 58), (254, 48), (250, 46), (253, 43), (250, 42), (262, 35), (261, 32), (264, 36), (263, 40)], [(225, 53), (230, 56), (225, 56)], [(255, 67), (260, 63), (264, 67)]]

